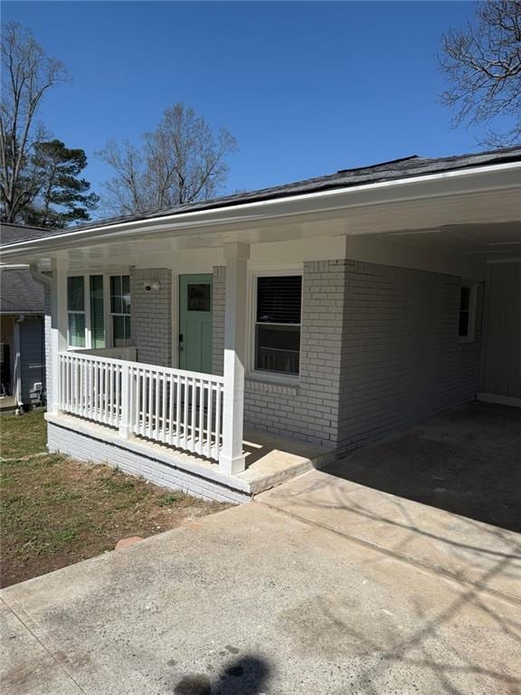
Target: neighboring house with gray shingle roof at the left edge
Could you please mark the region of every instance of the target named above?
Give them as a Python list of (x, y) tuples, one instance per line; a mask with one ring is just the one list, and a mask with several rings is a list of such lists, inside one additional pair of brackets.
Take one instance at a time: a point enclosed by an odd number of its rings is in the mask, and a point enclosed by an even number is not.
[[(2, 244), (43, 238), (49, 230), (2, 223)], [(44, 290), (27, 265), (0, 267), (0, 410), (45, 402)]]

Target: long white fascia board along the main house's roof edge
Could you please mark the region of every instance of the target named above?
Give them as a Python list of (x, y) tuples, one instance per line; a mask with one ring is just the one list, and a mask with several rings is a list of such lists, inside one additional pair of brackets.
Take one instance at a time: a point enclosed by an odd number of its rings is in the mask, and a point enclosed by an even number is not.
[(87, 243), (126, 241), (143, 234), (182, 233), (182, 230), (193, 233), (196, 229), (203, 231), (205, 227), (225, 224), (248, 224), (300, 214), (330, 214), (354, 207), (521, 188), (520, 174), (521, 162), (455, 169), (440, 174), (413, 176), (251, 203), (223, 205), (223, 207), (163, 217), (105, 224), (78, 232), (68, 231), (28, 242), (9, 244), (1, 253), (9, 256), (26, 251), (52, 252)]

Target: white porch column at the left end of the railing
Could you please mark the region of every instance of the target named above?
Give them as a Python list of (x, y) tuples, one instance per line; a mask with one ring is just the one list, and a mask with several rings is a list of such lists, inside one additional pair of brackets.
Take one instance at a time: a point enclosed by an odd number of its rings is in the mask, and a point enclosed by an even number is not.
[(60, 395), (60, 363), (58, 353), (67, 349), (67, 270), (65, 256), (52, 260), (51, 285), (51, 389), (48, 394), (48, 410), (58, 413)]

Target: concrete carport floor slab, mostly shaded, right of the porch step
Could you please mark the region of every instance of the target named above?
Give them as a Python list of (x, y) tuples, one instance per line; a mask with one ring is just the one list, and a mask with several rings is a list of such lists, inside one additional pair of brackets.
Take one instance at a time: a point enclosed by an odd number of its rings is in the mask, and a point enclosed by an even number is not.
[(518, 597), (520, 463), (521, 411), (475, 403), (256, 500), (391, 557)]

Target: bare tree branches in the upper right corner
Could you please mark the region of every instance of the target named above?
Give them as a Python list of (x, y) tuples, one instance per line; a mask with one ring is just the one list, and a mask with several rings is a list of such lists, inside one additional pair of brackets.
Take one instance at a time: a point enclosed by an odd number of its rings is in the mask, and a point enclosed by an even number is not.
[(521, 2), (488, 0), (476, 5), (476, 21), (443, 34), (440, 68), (450, 87), (441, 100), (454, 123), (489, 123), (506, 116), (513, 127), (491, 130), (487, 144), (508, 145), (521, 137)]

